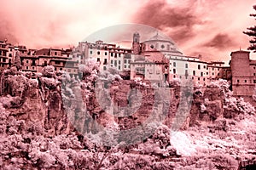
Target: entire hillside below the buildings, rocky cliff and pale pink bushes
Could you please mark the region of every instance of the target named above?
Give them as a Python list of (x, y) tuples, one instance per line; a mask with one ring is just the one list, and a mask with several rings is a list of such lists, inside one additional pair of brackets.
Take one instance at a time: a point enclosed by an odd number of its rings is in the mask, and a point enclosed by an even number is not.
[(2, 75), (4, 169), (237, 169), (256, 154), (254, 107), (223, 80), (158, 88), (94, 67), (77, 81), (50, 66), (35, 79)]

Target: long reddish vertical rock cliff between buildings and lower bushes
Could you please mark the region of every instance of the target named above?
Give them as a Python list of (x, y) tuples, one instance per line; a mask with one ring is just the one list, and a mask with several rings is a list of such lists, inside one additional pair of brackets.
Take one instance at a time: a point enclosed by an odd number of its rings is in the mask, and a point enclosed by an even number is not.
[(11, 115), (38, 124), (46, 135), (70, 133), (74, 128), (80, 133), (97, 133), (113, 124), (127, 130), (149, 122), (186, 129), (243, 111), (239, 107), (243, 101), (232, 103), (224, 82), (189, 91), (178, 85), (155, 88), (142, 81), (96, 82), (95, 77), (76, 82), (53, 73), (52, 68), (37, 79), (19, 72), (3, 74), (1, 84), (5, 84), (4, 98)]

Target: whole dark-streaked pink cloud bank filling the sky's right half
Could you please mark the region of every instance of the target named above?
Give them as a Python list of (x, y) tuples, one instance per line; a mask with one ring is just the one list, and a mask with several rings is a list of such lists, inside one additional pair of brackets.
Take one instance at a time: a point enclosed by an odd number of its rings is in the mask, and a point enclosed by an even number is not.
[(253, 0), (150, 1), (143, 3), (133, 20), (172, 37), (183, 54), (228, 60), (230, 51), (248, 46), (242, 31), (253, 25), (249, 17), (253, 4)]

